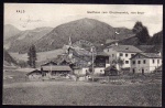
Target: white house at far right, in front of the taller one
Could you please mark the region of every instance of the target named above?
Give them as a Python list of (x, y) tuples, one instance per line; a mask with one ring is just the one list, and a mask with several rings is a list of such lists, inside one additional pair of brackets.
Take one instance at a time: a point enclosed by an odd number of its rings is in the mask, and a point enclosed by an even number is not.
[(156, 53), (138, 53), (130, 60), (132, 73), (152, 73), (162, 66), (162, 57)]

